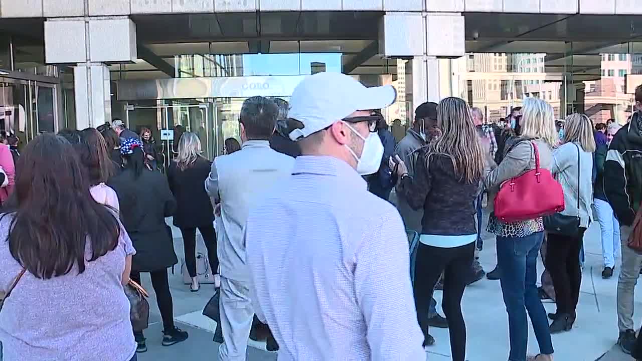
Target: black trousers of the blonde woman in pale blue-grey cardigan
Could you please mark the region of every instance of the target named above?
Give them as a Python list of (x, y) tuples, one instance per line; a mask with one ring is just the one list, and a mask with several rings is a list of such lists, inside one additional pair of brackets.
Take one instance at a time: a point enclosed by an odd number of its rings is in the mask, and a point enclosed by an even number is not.
[(553, 280), (558, 313), (575, 315), (582, 283), (580, 249), (585, 231), (580, 228), (574, 236), (549, 233), (546, 239), (546, 270)]

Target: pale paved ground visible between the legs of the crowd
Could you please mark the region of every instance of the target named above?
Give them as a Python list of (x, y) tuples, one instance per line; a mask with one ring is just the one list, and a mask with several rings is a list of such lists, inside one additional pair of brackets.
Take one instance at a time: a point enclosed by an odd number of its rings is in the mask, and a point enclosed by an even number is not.
[[(179, 258), (182, 257), (180, 233), (175, 231), (175, 247)], [(492, 270), (496, 263), (494, 238), (485, 234), (484, 250), (480, 261), (486, 270)], [(582, 279), (582, 294), (578, 305), (578, 319), (573, 330), (553, 336), (555, 360), (560, 361), (633, 361), (632, 358), (614, 347), (618, 337), (616, 315), (617, 273), (611, 279), (602, 279), (602, 256), (599, 226), (594, 223), (585, 236), (586, 265)], [(541, 262), (539, 271), (543, 269)], [(156, 322), (146, 331), (149, 351), (141, 354), (141, 361), (157, 360), (216, 360), (218, 344), (212, 342), (215, 324), (201, 315), (202, 308), (213, 294), (211, 285), (203, 285), (200, 292), (191, 293), (187, 285), (182, 284), (180, 264), (176, 274), (171, 276), (172, 294), (174, 297), (175, 318), (178, 326), (190, 331), (190, 338), (183, 344), (163, 348), (160, 346), (160, 316), (154, 300), (150, 300), (152, 316)], [(143, 279), (143, 284), (150, 294), (153, 290), (150, 281)], [(153, 295), (152, 295), (153, 297)], [(435, 293), (439, 306), (441, 292)], [(642, 310), (642, 291), (636, 294), (636, 308)], [(499, 281), (483, 279), (467, 288), (464, 294), (464, 317), (467, 325), (469, 361), (501, 361), (508, 358), (508, 321), (505, 306), (501, 297)], [(438, 307), (439, 307), (438, 306)], [(555, 304), (546, 303), (548, 312), (555, 312)], [(636, 314), (636, 321), (642, 313)], [(437, 343), (428, 348), (429, 360), (450, 360), (450, 346), (447, 330), (431, 329)], [(529, 335), (529, 351), (537, 353), (537, 343), (532, 333)], [(602, 358), (600, 358), (602, 357)], [(265, 344), (250, 341), (249, 361), (275, 360), (274, 353), (265, 351)]]

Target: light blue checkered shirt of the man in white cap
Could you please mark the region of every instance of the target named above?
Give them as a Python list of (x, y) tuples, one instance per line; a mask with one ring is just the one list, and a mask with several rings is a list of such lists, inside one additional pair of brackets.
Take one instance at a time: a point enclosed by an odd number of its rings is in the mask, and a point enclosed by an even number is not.
[(245, 227), (279, 360), (426, 360), (397, 209), (333, 157), (298, 157), (279, 189)]

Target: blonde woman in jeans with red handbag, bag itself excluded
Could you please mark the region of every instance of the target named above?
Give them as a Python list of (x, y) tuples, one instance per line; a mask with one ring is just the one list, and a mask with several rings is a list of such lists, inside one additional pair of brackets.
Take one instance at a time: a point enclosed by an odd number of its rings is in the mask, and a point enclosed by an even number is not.
[[(508, 179), (535, 169), (535, 147), (540, 168), (552, 167), (551, 149), (557, 143), (553, 108), (546, 101), (526, 98), (522, 107), (519, 139), (505, 150), (498, 167), (484, 179), (483, 186), (496, 193)], [(492, 207), (492, 203), (489, 204)], [(537, 294), (537, 254), (544, 239), (542, 217), (520, 222), (501, 222), (490, 214), (488, 231), (497, 236), (497, 264), (501, 292), (508, 313), (510, 354), (508, 360), (526, 360), (528, 322), (530, 316), (539, 344), (540, 354), (528, 358), (535, 361), (553, 360), (553, 342), (546, 319), (546, 310)]]

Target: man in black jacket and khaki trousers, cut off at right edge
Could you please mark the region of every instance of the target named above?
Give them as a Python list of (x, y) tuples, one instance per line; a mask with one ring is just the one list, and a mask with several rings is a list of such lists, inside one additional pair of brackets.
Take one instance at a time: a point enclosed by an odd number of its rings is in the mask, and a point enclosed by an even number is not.
[(604, 163), (604, 193), (620, 222), (622, 269), (618, 279), (618, 344), (625, 353), (635, 347), (633, 296), (642, 254), (627, 247), (633, 220), (642, 200), (642, 85), (636, 88), (636, 112), (609, 146)]

